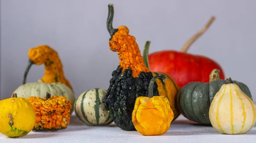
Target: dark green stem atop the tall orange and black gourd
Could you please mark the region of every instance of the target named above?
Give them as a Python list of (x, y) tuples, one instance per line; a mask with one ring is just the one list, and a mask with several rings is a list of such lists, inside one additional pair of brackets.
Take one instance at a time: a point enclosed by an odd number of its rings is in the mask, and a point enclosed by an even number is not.
[(113, 28), (113, 17), (114, 17), (114, 6), (112, 3), (108, 4), (108, 19), (107, 19), (107, 29), (108, 33), (112, 37), (118, 29)]

